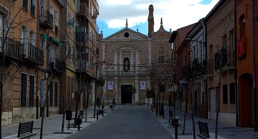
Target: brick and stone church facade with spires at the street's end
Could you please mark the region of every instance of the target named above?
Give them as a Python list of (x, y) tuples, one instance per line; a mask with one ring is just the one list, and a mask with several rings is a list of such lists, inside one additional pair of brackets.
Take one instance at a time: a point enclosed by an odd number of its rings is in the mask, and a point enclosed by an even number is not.
[[(148, 36), (129, 29), (126, 21), (124, 29), (100, 40), (98, 62), (105, 63), (99, 66), (98, 75), (105, 80), (102, 89), (104, 102), (144, 102), (146, 91), (156, 87), (158, 92), (157, 84), (151, 85), (150, 69), (154, 65), (162, 68), (161, 65), (171, 58), (171, 31), (163, 28), (161, 18), (160, 28), (154, 32), (153, 11), (153, 5), (149, 5)], [(129, 87), (134, 87), (135, 91), (129, 92)], [(168, 101), (168, 91), (165, 90), (162, 95), (165, 95), (164, 101)], [(100, 92), (98, 89), (96, 97), (102, 97)]]

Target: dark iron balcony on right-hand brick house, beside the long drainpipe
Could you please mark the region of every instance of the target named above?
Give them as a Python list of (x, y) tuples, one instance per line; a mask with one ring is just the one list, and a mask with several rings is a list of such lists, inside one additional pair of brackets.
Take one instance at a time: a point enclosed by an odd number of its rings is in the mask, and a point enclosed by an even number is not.
[(220, 52), (214, 54), (214, 69), (222, 71), (234, 70), (235, 69), (235, 48), (226, 47), (221, 49)]

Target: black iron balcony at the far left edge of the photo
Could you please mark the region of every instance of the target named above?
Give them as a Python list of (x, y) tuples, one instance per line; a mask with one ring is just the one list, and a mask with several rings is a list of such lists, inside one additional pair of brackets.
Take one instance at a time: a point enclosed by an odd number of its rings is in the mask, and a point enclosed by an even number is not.
[[(0, 47), (4, 47), (4, 55), (6, 60), (22, 62), (21, 48), (22, 44), (10, 39), (8, 37), (0, 37)], [(0, 48), (0, 56), (3, 56), (2, 49)]]

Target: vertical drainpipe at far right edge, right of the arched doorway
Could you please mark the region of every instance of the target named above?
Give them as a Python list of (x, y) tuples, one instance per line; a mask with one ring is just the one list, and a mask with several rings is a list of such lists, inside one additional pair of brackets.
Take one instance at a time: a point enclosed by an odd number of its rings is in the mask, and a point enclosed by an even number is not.
[(253, 69), (254, 69), (254, 108), (255, 132), (257, 131), (257, 104), (256, 104), (256, 67), (255, 67), (255, 0), (252, 0), (252, 32), (253, 32)]

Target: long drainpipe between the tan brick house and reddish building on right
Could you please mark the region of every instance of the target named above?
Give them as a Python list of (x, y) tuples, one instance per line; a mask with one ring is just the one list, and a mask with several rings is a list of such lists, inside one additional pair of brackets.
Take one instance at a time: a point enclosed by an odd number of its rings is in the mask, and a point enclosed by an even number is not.
[[(234, 27), (235, 27), (235, 31), (234, 31), (234, 42), (237, 42), (237, 9), (236, 9), (236, 3), (234, 4)], [(237, 52), (237, 43), (235, 43), (235, 52)], [(234, 76), (235, 76), (235, 96), (236, 96), (236, 127), (239, 127), (239, 107), (238, 107), (238, 91), (239, 91), (239, 88), (238, 88), (238, 76), (237, 76), (237, 55), (235, 55), (235, 73), (234, 73)]]

